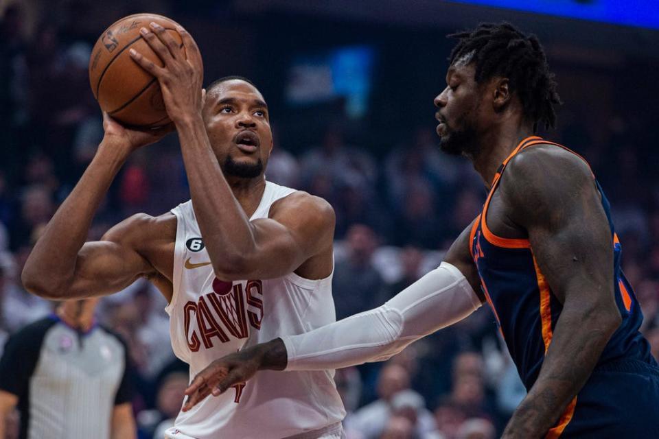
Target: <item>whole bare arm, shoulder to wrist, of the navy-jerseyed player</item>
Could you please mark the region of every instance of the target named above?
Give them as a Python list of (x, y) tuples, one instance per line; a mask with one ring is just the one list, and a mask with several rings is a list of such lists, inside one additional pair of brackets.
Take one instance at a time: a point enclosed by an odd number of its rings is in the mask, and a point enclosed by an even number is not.
[(511, 160), (499, 191), (563, 304), (537, 381), (503, 434), (539, 438), (581, 390), (620, 325), (614, 243), (594, 177), (574, 154), (550, 145), (529, 148)]

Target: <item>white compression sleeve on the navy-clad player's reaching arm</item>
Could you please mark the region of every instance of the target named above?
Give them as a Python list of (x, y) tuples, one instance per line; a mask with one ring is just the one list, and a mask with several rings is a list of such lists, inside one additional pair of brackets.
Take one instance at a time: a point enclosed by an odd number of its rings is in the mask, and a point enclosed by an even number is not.
[(288, 353), (286, 370), (337, 369), (382, 361), (478, 307), (481, 300), (465, 276), (442, 262), (379, 308), (308, 333), (281, 337)]

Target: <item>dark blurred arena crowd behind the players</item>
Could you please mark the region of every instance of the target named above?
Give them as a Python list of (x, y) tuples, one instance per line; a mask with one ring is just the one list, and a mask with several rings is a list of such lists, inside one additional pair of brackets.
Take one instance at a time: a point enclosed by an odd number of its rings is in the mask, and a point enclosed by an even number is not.
[[(337, 318), (380, 305), (435, 268), (485, 199), (467, 161), (437, 148), (432, 99), (445, 86), (454, 44), (446, 34), (502, 20), (537, 34), (564, 100), (557, 129), (542, 134), (585, 156), (610, 198), (623, 269), (657, 355), (659, 5), (622, 3), (0, 0), (0, 351), (8, 334), (52, 310), (19, 274), (102, 138), (91, 47), (122, 16), (157, 12), (192, 33), (206, 84), (244, 75), (266, 97), (275, 134), (268, 180), (334, 206)], [(188, 198), (172, 135), (130, 158), (90, 239)], [(130, 348), (140, 438), (176, 416), (187, 385), (164, 307), (137, 282), (99, 309)], [(487, 307), (336, 380), (354, 439), (494, 438), (524, 396)]]

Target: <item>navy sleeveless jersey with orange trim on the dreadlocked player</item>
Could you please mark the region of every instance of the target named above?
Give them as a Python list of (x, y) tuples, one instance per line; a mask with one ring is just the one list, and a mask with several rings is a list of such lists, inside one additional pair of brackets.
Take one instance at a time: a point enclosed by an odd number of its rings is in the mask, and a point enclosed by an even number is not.
[[(551, 142), (537, 137), (525, 139), (516, 152), (539, 143)], [(487, 302), (495, 314), (520, 377), (530, 388), (540, 371), (563, 307), (538, 268), (524, 231), (507, 221), (509, 207), (496, 191), (498, 178), (505, 178), (503, 169), (498, 171), (483, 211), (474, 223), (470, 250)], [(647, 342), (638, 333), (643, 316), (632, 287), (620, 269), (621, 244), (614, 233), (609, 204), (603, 193), (602, 205), (611, 227), (614, 290), (623, 323), (607, 344), (599, 364), (626, 356), (649, 361)]]

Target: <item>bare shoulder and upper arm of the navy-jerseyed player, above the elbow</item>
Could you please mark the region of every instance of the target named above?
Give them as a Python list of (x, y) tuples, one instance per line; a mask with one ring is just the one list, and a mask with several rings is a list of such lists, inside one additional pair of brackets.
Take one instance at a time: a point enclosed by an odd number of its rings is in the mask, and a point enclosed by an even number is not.
[(613, 239), (590, 168), (564, 151), (527, 158), (513, 163), (501, 189), (537, 268), (561, 302), (612, 299)]

